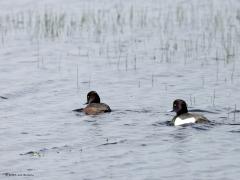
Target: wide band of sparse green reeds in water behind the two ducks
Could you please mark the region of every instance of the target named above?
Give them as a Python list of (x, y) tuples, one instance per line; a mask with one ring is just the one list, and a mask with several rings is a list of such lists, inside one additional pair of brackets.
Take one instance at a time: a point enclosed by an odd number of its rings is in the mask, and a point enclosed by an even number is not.
[[(30, 40), (78, 38), (81, 41), (87, 37), (96, 40), (99, 55), (105, 57), (112, 51), (109, 47), (115, 47), (117, 54), (128, 54), (126, 47), (133, 49), (143, 42), (155, 44), (148, 48), (155, 61), (173, 62), (181, 57), (185, 63), (201, 59), (229, 63), (235, 60), (239, 49), (240, 23), (239, 10), (225, 8), (228, 11), (204, 3), (177, 3), (168, 9), (160, 3), (156, 7), (130, 3), (108, 8), (83, 7), (77, 12), (45, 7), (0, 15), (0, 33), (2, 44), (19, 33)], [(141, 40), (140, 34), (146, 38)], [(133, 54), (135, 60), (136, 54)], [(128, 63), (125, 62), (126, 69)]]

